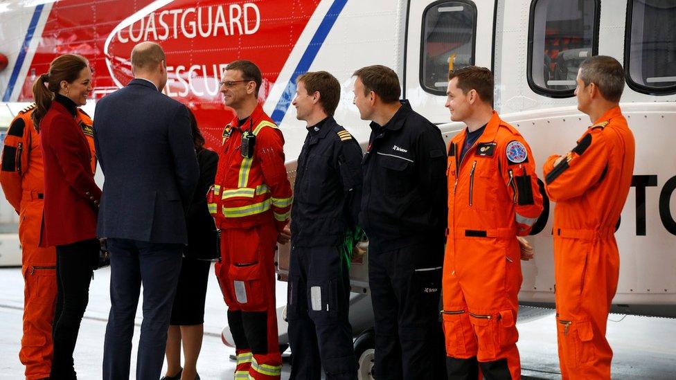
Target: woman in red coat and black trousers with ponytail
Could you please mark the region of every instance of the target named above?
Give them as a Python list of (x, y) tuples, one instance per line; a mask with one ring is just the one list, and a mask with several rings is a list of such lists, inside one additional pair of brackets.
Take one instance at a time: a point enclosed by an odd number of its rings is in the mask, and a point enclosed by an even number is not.
[(44, 159), (44, 223), (41, 246), (56, 246), (57, 305), (53, 322), (51, 379), (77, 379), (73, 350), (98, 264), (96, 216), (101, 190), (94, 182), (89, 145), (75, 122), (91, 94), (89, 62), (61, 55), (33, 85)]

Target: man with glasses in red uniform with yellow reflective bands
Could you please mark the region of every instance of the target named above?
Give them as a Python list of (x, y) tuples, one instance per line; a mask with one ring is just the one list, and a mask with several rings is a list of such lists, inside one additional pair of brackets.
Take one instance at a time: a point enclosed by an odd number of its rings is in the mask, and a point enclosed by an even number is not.
[[(226, 66), (220, 91), (235, 118), (223, 131), (209, 210), (222, 230), (215, 271), (235, 341), (235, 379), (279, 379), (282, 369), (275, 311), (274, 252), (289, 221), (291, 185), (284, 138), (258, 104), (256, 64)], [(281, 238), (283, 239), (283, 238)]]

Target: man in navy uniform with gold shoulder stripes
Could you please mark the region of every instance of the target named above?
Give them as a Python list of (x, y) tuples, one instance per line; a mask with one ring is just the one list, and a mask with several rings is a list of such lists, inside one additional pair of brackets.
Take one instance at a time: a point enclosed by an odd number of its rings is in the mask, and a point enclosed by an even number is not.
[[(326, 71), (298, 80), (296, 118), (308, 123), (291, 209), (287, 319), (291, 379), (357, 379), (348, 320), (350, 251), (362, 192), (362, 149), (333, 113), (340, 84)], [(351, 246), (350, 246), (351, 248)], [(321, 364), (320, 364), (321, 361)]]

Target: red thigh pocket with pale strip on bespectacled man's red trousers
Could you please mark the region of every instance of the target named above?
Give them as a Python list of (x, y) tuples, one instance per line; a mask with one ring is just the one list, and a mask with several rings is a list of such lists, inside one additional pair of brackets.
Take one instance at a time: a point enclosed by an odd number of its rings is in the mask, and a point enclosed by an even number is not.
[(233, 285), (235, 302), (244, 311), (256, 311), (265, 306), (265, 291), (260, 281), (262, 269), (258, 262), (251, 264), (232, 264), (230, 281)]

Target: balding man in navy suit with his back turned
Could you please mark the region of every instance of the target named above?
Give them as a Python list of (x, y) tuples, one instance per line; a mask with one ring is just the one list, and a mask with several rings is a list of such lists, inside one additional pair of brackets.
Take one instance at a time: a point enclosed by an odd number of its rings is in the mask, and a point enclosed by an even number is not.
[(160, 377), (167, 328), (188, 243), (185, 214), (199, 169), (188, 111), (161, 93), (165, 55), (152, 42), (132, 51), (134, 80), (96, 105), (94, 142), (105, 175), (98, 237), (107, 237), (110, 300), (103, 379), (129, 379), (134, 315), (143, 284), (136, 379)]

